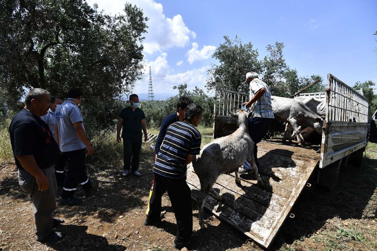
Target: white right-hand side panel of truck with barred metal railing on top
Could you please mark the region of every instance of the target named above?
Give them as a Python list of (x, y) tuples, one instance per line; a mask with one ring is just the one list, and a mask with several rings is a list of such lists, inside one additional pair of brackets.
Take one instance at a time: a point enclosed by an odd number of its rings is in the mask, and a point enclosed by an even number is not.
[(328, 74), (320, 168), (365, 148), (368, 109), (365, 96)]

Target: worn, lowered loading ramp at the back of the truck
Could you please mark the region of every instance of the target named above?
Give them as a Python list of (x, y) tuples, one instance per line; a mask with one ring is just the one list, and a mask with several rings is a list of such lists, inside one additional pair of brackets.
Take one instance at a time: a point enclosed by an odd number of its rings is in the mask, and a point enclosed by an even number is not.
[[(234, 181), (234, 173), (221, 175), (213, 188), (225, 202), (209, 195), (205, 208), (269, 248), (319, 163), (320, 155), (311, 149), (261, 142), (258, 144), (258, 160), (265, 188), (257, 185), (254, 173), (240, 175), (239, 187)], [(187, 170), (187, 184), (196, 201), (200, 183), (191, 165)]]

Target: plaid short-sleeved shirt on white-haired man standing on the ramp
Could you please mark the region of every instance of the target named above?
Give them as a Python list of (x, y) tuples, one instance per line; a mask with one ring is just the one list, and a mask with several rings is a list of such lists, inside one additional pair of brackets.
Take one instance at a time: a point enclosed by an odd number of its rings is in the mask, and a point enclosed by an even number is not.
[(255, 93), (262, 88), (265, 88), (266, 91), (262, 97), (260, 97), (253, 105), (251, 106), (251, 112), (253, 117), (261, 118), (274, 118), (274, 113), (272, 112), (271, 106), (271, 93), (270, 88), (262, 80), (255, 78), (250, 82), (250, 100), (255, 95)]

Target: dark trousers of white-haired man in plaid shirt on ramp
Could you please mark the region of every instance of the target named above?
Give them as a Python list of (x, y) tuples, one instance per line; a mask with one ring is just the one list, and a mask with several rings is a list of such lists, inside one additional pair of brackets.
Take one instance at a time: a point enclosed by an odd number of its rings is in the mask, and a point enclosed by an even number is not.
[(254, 142), (254, 159), (255, 164), (259, 167), (257, 153), (258, 147), (257, 143), (261, 142), (262, 138), (267, 134), (268, 127), (271, 125), (273, 119), (254, 117), (253, 121), (248, 124), (248, 130), (251, 139)]

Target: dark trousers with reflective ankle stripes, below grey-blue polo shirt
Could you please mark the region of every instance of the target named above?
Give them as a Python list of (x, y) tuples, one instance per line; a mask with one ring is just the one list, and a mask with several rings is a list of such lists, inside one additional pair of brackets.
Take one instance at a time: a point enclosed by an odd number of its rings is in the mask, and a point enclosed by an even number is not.
[(62, 198), (73, 196), (76, 192), (78, 183), (81, 184), (83, 190), (90, 189), (92, 185), (86, 175), (85, 168), (85, 148), (70, 152), (64, 152), (68, 160), (68, 168), (66, 179), (64, 180)]

